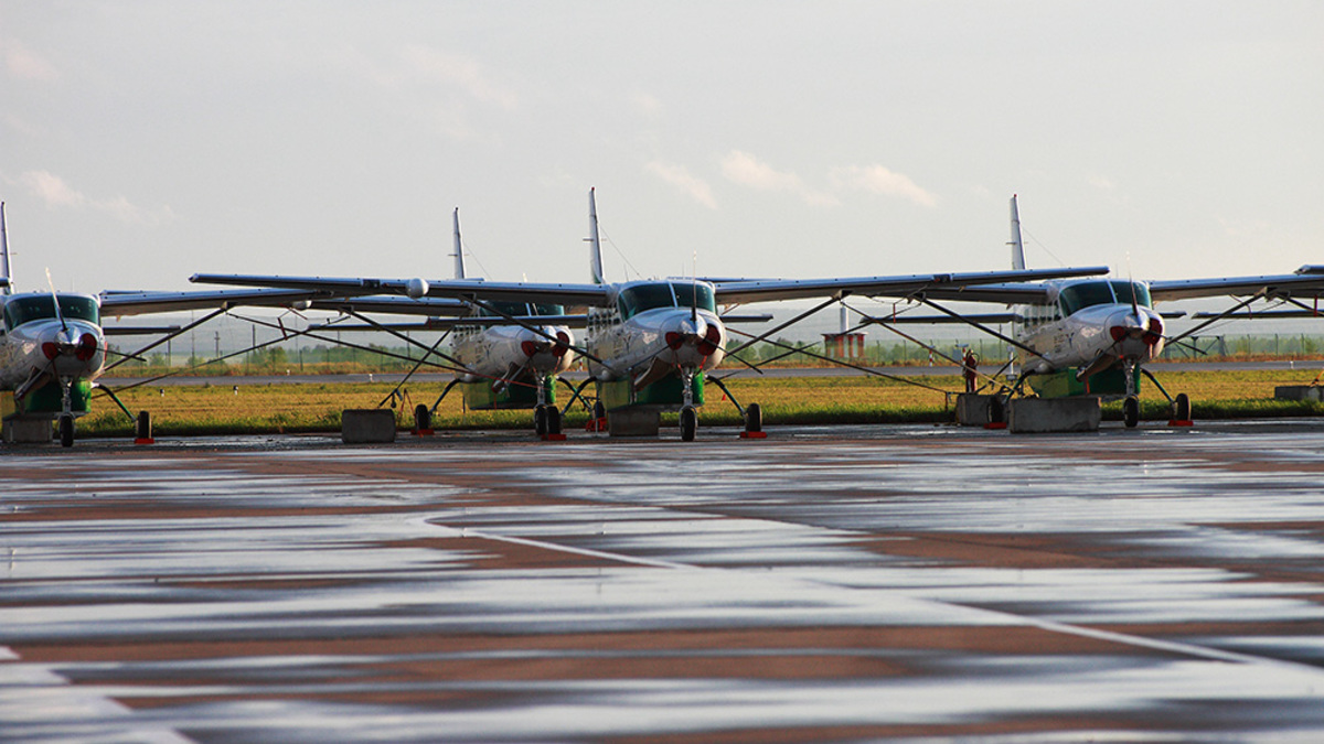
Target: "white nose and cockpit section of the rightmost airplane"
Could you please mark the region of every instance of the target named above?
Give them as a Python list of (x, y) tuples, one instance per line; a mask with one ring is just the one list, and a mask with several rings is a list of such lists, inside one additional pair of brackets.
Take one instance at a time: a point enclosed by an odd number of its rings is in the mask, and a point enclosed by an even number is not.
[[(1072, 293), (1072, 287), (1106, 301), (1076, 307), (1071, 299), (1082, 293)], [(1162, 318), (1148, 306), (1147, 287), (1136, 287), (1132, 293), (1129, 282), (1100, 279), (1064, 283), (1050, 304), (1021, 307), (1017, 340), (1037, 355), (1023, 360), (1025, 371), (1047, 373), (1079, 367), (1096, 372), (1116, 361), (1145, 364), (1158, 356), (1164, 348)], [(1100, 298), (1098, 293), (1107, 290), (1120, 297)]]

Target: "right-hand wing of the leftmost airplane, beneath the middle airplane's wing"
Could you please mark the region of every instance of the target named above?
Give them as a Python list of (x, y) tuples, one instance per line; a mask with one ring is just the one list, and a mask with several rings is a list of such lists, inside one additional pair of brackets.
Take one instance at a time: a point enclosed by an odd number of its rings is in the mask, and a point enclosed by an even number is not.
[(454, 299), (408, 297), (328, 297), (323, 291), (286, 289), (200, 291), (103, 291), (101, 311), (109, 316), (214, 310), (217, 307), (295, 307), (299, 310), (356, 310), (400, 315), (465, 315), (469, 306)]

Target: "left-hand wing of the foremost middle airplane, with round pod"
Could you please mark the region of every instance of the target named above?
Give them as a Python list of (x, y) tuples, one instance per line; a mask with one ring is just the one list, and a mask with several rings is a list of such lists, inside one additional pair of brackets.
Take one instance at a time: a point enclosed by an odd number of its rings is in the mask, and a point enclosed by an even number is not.
[(195, 274), (191, 282), (241, 287), (279, 287), (335, 297), (410, 295), (417, 291), (433, 298), (478, 298), (485, 301), (539, 302), (551, 304), (609, 304), (606, 285), (487, 282), (479, 279), (369, 279), (335, 277), (262, 277), (245, 274)]

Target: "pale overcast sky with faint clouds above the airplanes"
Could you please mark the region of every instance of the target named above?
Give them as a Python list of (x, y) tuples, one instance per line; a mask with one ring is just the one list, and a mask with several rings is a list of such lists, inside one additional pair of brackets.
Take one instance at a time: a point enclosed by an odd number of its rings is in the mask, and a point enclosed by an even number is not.
[[(0, 0), (23, 289), (1324, 263), (1324, 4)], [(1129, 261), (1129, 269), (1128, 269)], [(696, 269), (695, 269), (696, 263)]]

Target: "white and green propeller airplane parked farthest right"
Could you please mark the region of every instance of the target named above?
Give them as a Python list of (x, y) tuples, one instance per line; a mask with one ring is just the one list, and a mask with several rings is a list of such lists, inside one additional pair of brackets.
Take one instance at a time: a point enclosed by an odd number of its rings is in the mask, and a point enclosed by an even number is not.
[[(1021, 218), (1017, 199), (1012, 196), (1012, 266), (1025, 269), (1021, 242)], [(1303, 269), (1298, 274), (1258, 277), (1218, 277), (1206, 279), (1131, 281), (1112, 278), (1067, 278), (1035, 283), (985, 283), (951, 291), (944, 287), (925, 290), (920, 299), (944, 316), (928, 320), (956, 319), (990, 334), (1021, 355), (1022, 385), (1043, 397), (1102, 395), (1123, 398), (1123, 420), (1133, 428), (1140, 420), (1137, 373), (1148, 377), (1172, 406), (1172, 418), (1190, 420), (1190, 400), (1176, 397), (1144, 368), (1166, 344), (1178, 343), (1209, 323), (1233, 316), (1251, 302), (1292, 295), (1319, 297), (1324, 293), (1324, 275)], [(1177, 336), (1168, 336), (1164, 314), (1155, 303), (1202, 297), (1246, 298), (1226, 312)], [(994, 302), (1016, 304), (1009, 314), (963, 315), (935, 301)], [(1182, 312), (1176, 316), (1184, 315)], [(1169, 315), (1169, 318), (1173, 315)], [(887, 323), (886, 318), (873, 319)], [(920, 319), (914, 319), (920, 320)], [(989, 323), (1013, 323), (1014, 336), (1008, 338), (989, 328)]]

